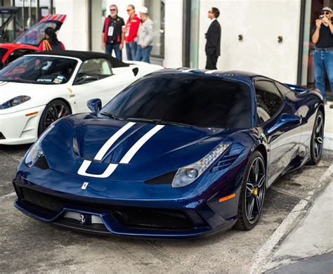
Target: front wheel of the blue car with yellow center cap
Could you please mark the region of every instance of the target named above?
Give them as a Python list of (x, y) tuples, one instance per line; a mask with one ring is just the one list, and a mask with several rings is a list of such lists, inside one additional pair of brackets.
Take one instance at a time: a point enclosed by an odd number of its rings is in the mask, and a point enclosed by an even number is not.
[[(238, 202), (237, 230), (252, 230), (259, 221), (266, 191), (266, 167), (263, 155), (256, 150), (251, 155), (244, 174)], [(252, 183), (253, 182), (253, 183)]]

